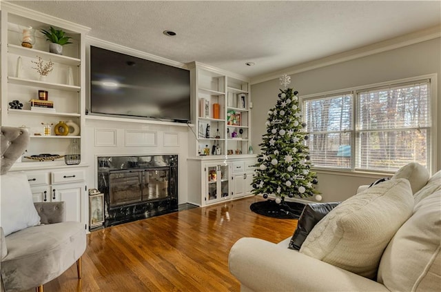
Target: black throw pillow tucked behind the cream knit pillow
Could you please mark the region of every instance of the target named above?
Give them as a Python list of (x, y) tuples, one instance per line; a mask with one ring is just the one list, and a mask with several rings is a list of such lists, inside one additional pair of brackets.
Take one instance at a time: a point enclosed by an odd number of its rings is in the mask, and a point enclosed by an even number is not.
[(298, 218), (297, 228), (288, 244), (288, 249), (298, 251), (312, 228), (338, 204), (340, 202), (307, 204)]

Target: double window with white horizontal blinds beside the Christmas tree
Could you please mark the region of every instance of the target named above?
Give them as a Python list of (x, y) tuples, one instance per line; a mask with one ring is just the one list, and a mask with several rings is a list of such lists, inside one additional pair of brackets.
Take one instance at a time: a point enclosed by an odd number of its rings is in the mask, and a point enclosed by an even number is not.
[(314, 167), (397, 171), (418, 162), (430, 168), (430, 96), (424, 79), (303, 99)]

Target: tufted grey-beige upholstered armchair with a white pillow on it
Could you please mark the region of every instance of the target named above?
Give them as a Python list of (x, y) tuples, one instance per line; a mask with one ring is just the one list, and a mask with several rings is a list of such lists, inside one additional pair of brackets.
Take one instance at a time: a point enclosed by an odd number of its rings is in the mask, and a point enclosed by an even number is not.
[(24, 173), (8, 173), (30, 139), (26, 130), (1, 127), (1, 288), (6, 292), (36, 288), (64, 273), (86, 246), (80, 222), (65, 222), (64, 202), (33, 203)]

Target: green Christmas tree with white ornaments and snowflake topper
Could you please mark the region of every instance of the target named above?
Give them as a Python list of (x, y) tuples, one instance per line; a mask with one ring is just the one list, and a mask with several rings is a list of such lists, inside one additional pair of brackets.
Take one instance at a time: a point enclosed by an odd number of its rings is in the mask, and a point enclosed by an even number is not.
[(261, 153), (257, 156), (252, 184), (254, 195), (263, 194), (266, 199), (274, 194), (277, 203), (283, 202), (285, 196), (318, 194), (313, 186), (318, 181), (316, 173), (311, 171), (309, 150), (305, 145), (309, 137), (304, 131), (306, 124), (301, 121), (298, 92), (286, 88), (290, 79), (288, 75), (280, 77), (285, 90), (280, 89), (276, 106), (268, 111), (267, 133), (259, 144)]

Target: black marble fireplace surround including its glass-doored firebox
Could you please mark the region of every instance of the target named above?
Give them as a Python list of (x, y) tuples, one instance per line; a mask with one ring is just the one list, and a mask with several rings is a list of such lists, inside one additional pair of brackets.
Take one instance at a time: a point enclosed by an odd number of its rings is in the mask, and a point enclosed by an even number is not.
[(178, 155), (98, 157), (104, 226), (178, 211)]

